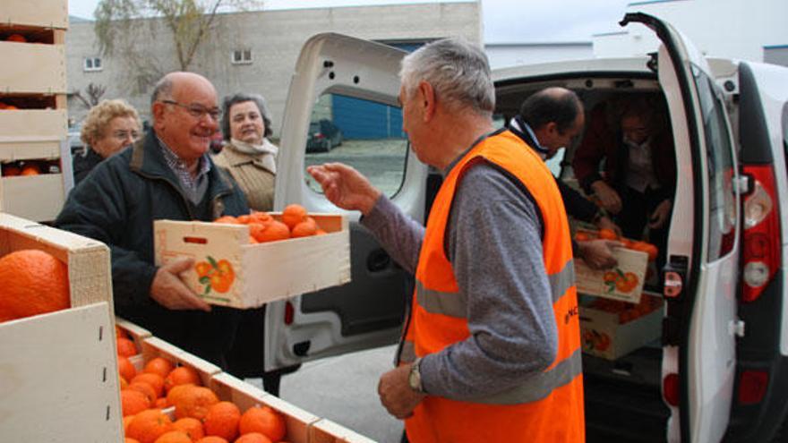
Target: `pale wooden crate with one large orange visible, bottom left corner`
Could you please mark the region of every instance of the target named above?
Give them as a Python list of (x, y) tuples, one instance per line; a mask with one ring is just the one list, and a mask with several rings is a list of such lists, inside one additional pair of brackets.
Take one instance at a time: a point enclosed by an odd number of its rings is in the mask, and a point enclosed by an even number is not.
[(0, 214), (4, 440), (120, 441), (109, 250)]

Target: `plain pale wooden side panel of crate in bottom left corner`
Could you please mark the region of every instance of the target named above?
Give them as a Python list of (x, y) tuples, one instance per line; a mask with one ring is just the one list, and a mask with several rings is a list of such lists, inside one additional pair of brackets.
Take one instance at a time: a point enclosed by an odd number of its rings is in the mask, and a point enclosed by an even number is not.
[(106, 302), (0, 324), (2, 440), (123, 441), (113, 328)]

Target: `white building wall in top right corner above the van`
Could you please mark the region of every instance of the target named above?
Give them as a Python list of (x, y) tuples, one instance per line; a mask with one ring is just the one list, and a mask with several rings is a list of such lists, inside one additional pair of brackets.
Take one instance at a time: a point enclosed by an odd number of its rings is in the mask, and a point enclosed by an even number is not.
[[(653, 0), (630, 3), (627, 12), (669, 21), (709, 56), (762, 62), (764, 47), (788, 44), (785, 0)], [(594, 36), (596, 57), (643, 55), (657, 47), (654, 32), (640, 24)]]

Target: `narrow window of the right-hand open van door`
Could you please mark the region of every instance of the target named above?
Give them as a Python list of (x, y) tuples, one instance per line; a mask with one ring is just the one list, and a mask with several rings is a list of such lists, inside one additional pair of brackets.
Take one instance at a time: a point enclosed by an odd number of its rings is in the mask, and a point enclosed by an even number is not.
[(724, 102), (714, 81), (695, 68), (703, 129), (706, 134), (709, 236), (708, 261), (714, 261), (732, 250), (735, 239), (736, 196), (733, 192), (733, 151)]

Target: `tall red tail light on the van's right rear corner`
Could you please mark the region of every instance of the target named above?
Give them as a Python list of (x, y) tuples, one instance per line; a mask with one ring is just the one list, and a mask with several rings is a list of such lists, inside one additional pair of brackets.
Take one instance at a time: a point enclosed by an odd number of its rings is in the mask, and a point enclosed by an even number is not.
[(780, 208), (772, 166), (743, 169), (743, 174), (750, 177), (751, 191), (744, 197), (741, 301), (754, 302), (780, 268)]

